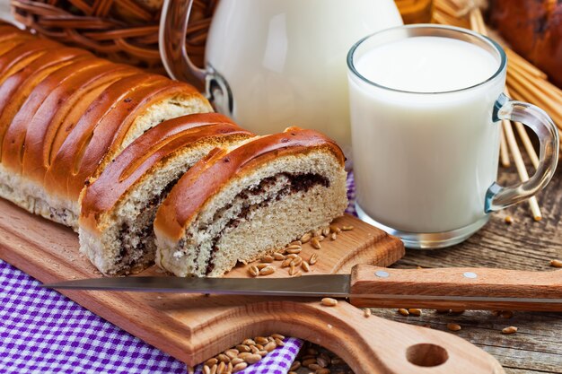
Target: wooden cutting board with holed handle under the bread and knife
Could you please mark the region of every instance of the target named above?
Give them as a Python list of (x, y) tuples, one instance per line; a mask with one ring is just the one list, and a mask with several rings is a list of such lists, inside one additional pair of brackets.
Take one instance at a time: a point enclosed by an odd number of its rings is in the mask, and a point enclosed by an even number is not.
[[(101, 274), (78, 252), (77, 234), (0, 199), (0, 258), (43, 283)], [(311, 274), (346, 273), (358, 263), (391, 265), (404, 254), (399, 239), (345, 216), (353, 225), (322, 248), (305, 245), (319, 261)], [(280, 269), (269, 276), (288, 276)], [(151, 268), (142, 275), (160, 275)], [(227, 276), (247, 276), (243, 266)], [(249, 336), (280, 333), (321, 344), (356, 373), (498, 373), (491, 356), (449, 334), (378, 317), (365, 318), (347, 302), (321, 306), (319, 300), (157, 292), (64, 291), (70, 299), (189, 366)], [(444, 363), (443, 363), (444, 362)], [(431, 370), (429, 370), (431, 369)]]

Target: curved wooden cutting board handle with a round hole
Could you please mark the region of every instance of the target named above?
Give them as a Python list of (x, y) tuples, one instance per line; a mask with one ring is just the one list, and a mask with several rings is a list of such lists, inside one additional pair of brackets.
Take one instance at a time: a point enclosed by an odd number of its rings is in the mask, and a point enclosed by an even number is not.
[(270, 300), (249, 303), (224, 317), (232, 327), (221, 332), (230, 344), (252, 334), (278, 332), (335, 352), (356, 374), (504, 373), (494, 357), (459, 336), (364, 317), (363, 310), (345, 301), (326, 307), (320, 300)]

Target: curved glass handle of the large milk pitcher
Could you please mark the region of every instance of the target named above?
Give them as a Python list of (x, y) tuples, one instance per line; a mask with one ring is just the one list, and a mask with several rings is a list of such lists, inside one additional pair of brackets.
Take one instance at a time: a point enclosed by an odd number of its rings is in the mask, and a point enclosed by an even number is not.
[(207, 72), (191, 62), (185, 43), (192, 6), (193, 0), (164, 0), (158, 45), (162, 64), (171, 78), (190, 83), (201, 90)]

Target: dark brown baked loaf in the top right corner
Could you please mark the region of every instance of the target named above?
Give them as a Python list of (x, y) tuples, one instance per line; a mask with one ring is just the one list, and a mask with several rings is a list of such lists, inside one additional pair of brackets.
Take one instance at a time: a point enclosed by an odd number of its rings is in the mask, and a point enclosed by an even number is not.
[(562, 3), (557, 0), (490, 0), (488, 22), (515, 52), (562, 87)]

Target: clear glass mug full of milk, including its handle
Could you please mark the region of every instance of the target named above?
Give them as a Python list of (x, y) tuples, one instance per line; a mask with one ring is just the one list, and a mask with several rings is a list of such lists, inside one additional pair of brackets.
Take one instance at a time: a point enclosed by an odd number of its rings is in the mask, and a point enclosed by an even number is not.
[[(357, 213), (406, 247), (457, 244), (552, 178), (557, 127), (504, 95), (506, 57), (493, 40), (400, 26), (359, 40), (347, 65)], [(501, 119), (540, 139), (538, 169), (514, 187), (496, 184)]]

